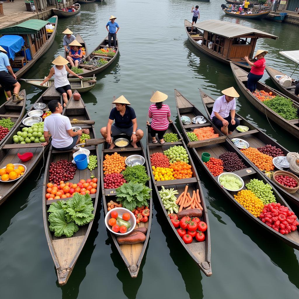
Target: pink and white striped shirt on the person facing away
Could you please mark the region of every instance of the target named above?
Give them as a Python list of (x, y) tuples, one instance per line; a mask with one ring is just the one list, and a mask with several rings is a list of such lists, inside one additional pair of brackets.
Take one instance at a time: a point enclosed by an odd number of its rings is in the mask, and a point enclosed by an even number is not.
[(149, 118), (152, 119), (151, 127), (157, 131), (167, 130), (169, 122), (167, 117), (170, 117), (170, 108), (163, 104), (161, 109), (157, 109), (156, 105), (149, 106)]

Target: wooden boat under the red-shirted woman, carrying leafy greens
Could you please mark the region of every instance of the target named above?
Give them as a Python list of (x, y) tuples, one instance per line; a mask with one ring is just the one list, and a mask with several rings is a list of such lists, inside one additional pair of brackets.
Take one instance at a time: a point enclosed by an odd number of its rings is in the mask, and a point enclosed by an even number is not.
[[(286, 130), (289, 134), (292, 134), (293, 137), (299, 138), (299, 121), (298, 118), (294, 120), (285, 120), (280, 115), (278, 115), (273, 110), (269, 109), (263, 102), (258, 100), (250, 91), (247, 90), (247, 75), (248, 73), (241, 68), (239, 68), (237, 65), (231, 63), (231, 69), (233, 71), (234, 77), (236, 79), (236, 82), (239, 86), (239, 88), (242, 90), (243, 94), (245, 95), (246, 99), (254, 106), (256, 107), (260, 112), (265, 114), (267, 118), (273, 120), (277, 125), (279, 125), (282, 129)], [(264, 90), (266, 92), (272, 92), (272, 95), (276, 96), (282, 96), (286, 97), (284, 94), (280, 93), (279, 91), (270, 88), (269, 86), (258, 82), (257, 83), (257, 91)], [(294, 100), (293, 104), (296, 107), (296, 109), (299, 108), (298, 103), (296, 103)]]

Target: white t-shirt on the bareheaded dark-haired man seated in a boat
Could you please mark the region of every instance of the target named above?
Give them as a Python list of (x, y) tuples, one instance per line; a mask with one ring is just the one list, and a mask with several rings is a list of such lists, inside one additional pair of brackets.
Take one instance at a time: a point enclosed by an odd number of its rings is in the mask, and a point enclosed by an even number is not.
[(71, 128), (68, 117), (60, 113), (52, 113), (45, 118), (44, 131), (51, 133), (52, 145), (56, 148), (68, 147), (72, 144), (73, 138), (66, 132)]

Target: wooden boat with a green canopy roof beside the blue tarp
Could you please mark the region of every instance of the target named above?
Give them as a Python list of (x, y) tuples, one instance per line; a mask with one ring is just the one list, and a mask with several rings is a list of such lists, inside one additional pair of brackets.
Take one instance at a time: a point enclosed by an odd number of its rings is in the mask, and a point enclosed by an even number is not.
[[(20, 56), (15, 57), (14, 60), (10, 60), (11, 67), (13, 69), (19, 69), (18, 71), (15, 71), (17, 79), (21, 78), (25, 72), (27, 72), (34, 63), (49, 50), (54, 42), (57, 30), (57, 20), (57, 16), (53, 16), (47, 21), (28, 20), (16, 26), (0, 29), (0, 34), (3, 36), (11, 34), (19, 35), (25, 40), (26, 51), (24, 51), (24, 47), (22, 47), (25, 57)], [(48, 24), (48, 22), (55, 26), (52, 33), (46, 32), (45, 25)], [(30, 53), (31, 60), (29, 60), (29, 57), (27, 57), (26, 54), (28, 48), (30, 50), (28, 53)]]

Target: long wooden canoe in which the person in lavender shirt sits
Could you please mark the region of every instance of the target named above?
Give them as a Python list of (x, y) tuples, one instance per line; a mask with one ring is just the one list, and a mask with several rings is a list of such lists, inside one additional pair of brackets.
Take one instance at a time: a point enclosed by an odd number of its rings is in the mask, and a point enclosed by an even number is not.
[[(214, 105), (215, 100), (212, 97), (205, 94), (202, 90), (200, 90), (200, 96), (201, 96), (201, 99), (202, 99), (202, 103), (204, 104), (205, 111), (207, 112), (208, 117), (211, 120), (210, 115), (212, 113), (213, 105)], [(284, 155), (287, 155), (289, 153), (289, 151), (286, 148), (284, 148), (282, 145), (277, 143), (273, 138), (266, 135), (259, 128), (252, 125), (249, 121), (247, 121), (245, 118), (243, 118), (238, 113), (236, 113), (236, 117), (239, 119), (240, 125), (241, 126), (248, 126), (249, 130), (247, 132), (239, 132), (239, 131), (235, 130), (233, 132), (233, 134), (226, 136), (229, 141), (231, 141), (232, 138), (237, 137), (237, 138), (242, 138), (243, 140), (246, 140), (250, 147), (257, 148), (257, 147), (263, 147), (266, 144), (271, 144), (272, 146), (275, 146), (277, 148), (282, 149)], [(221, 131), (220, 131), (220, 133), (222, 134)], [(235, 147), (235, 145), (234, 145), (234, 147)], [(235, 148), (236, 148), (236, 150), (239, 151), (239, 149), (237, 147), (235, 147)], [(255, 170), (260, 171), (259, 168), (256, 167), (254, 165), (254, 163), (252, 163), (245, 155), (244, 155), (244, 158), (248, 160), (248, 163), (252, 164), (252, 167), (254, 167)], [(275, 167), (274, 171), (276, 171), (276, 170), (279, 170), (279, 169)], [(291, 170), (288, 170), (288, 171), (292, 172)], [(262, 174), (265, 175), (266, 179), (271, 181), (270, 178), (268, 176), (266, 176), (266, 174), (264, 172), (262, 172)], [(290, 194), (290, 193), (286, 192), (283, 188), (281, 188), (278, 184), (274, 183), (274, 185), (275, 185), (276, 189), (278, 190), (278, 192), (283, 196), (283, 198), (291, 200), (295, 205), (299, 206), (299, 190), (296, 193)]]

